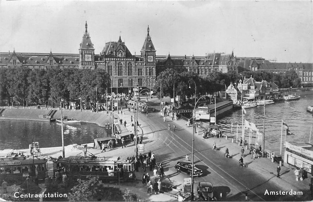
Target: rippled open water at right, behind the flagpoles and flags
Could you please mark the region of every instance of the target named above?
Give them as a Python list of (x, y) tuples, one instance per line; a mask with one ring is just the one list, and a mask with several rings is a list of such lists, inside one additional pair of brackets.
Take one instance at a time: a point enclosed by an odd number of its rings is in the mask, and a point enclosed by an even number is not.
[[(276, 102), (265, 106), (265, 149), (280, 154), (281, 123), (282, 120), (288, 125), (290, 134), (286, 136), (287, 142), (309, 142), (310, 130), (313, 125), (313, 116), (306, 111), (308, 105), (313, 105), (313, 94), (301, 95), (300, 100)], [(256, 106), (246, 109), (244, 120), (253, 122), (260, 132), (263, 133), (264, 106)], [(223, 132), (230, 135), (233, 122), (233, 135), (242, 135), (242, 111), (235, 110), (225, 117), (218, 119), (217, 124), (223, 128)], [(203, 122), (203, 126), (207, 126)], [(313, 129), (312, 129), (313, 130)], [(313, 133), (313, 131), (312, 131)], [(252, 144), (255, 144), (256, 132), (252, 133)], [(245, 130), (245, 140), (249, 142), (249, 133)], [(284, 150), (285, 130), (283, 129), (282, 150)], [(313, 142), (313, 134), (311, 143)]]

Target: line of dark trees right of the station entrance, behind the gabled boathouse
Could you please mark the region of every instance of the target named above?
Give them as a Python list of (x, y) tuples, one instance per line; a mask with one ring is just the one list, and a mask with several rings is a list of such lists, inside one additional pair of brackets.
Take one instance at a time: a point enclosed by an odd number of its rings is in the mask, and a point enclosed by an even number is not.
[[(230, 71), (222, 73), (219, 71), (210, 72), (209, 75), (201, 77), (193, 71), (177, 72), (173, 69), (167, 69), (158, 75), (158, 80), (162, 80), (162, 96), (173, 97), (175, 90), (176, 95), (182, 98), (190, 97), (195, 93), (195, 84), (197, 85), (197, 94), (212, 94), (216, 91), (225, 90), (225, 86), (232, 83), (238, 83), (239, 80), (253, 77), (256, 81), (266, 80), (274, 82), (280, 88), (297, 87), (301, 85), (301, 80), (295, 71), (286, 71), (285, 73), (269, 73), (267, 71), (244, 71), (236, 73)], [(194, 83), (194, 82), (195, 83)], [(190, 86), (190, 88), (189, 88)], [(156, 83), (154, 89), (160, 93), (161, 82)]]

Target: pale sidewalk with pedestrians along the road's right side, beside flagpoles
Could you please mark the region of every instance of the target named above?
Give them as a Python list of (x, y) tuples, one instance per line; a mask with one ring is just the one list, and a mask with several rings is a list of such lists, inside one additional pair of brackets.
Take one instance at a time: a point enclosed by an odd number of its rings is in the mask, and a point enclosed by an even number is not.
[[(167, 121), (169, 121), (170, 118), (167, 117)], [(171, 120), (172, 121), (172, 120)], [(189, 131), (191, 134), (193, 132), (193, 127), (187, 127), (186, 121), (184, 120), (177, 120), (173, 121), (177, 126), (184, 128), (185, 130)], [(238, 143), (232, 142), (231, 138), (226, 139), (225, 135), (231, 136), (230, 133), (223, 133), (223, 137), (217, 138), (217, 137), (210, 137), (207, 139), (203, 139), (203, 130), (201, 128), (197, 127), (197, 132), (195, 133), (195, 138), (202, 139), (204, 142), (207, 142), (209, 147), (213, 147), (213, 142), (216, 142), (216, 147), (221, 148), (218, 152), (224, 154), (226, 151), (226, 148), (229, 150), (229, 154), (232, 158), (239, 161), (241, 157), (241, 148), (243, 146), (239, 146)], [(199, 135), (198, 135), (199, 134)], [(294, 170), (295, 168), (289, 168), (288, 164), (285, 163), (281, 166), (280, 170), (280, 178), (276, 177), (277, 171), (276, 168), (279, 165), (278, 163), (271, 162), (270, 158), (251, 158), (251, 155), (249, 154), (249, 149), (246, 149), (244, 146), (244, 163), (248, 164), (248, 168), (246, 169), (253, 169), (257, 173), (261, 174), (264, 178), (268, 179), (269, 181), (277, 184), (282, 188), (282, 190), (294, 190), (294, 191), (302, 191), (303, 196), (306, 198), (303, 198), (303, 200), (311, 200), (309, 198), (310, 190), (309, 190), (309, 183), (311, 174), (308, 174), (308, 178), (304, 179), (303, 181), (296, 181), (295, 180), (295, 174)]]

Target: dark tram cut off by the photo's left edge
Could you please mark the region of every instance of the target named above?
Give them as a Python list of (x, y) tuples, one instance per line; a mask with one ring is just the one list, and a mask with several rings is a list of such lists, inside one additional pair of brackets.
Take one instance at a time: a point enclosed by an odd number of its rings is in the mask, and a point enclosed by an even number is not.
[(38, 179), (48, 176), (46, 159), (18, 159), (0, 161), (0, 181), (21, 182), (29, 175)]

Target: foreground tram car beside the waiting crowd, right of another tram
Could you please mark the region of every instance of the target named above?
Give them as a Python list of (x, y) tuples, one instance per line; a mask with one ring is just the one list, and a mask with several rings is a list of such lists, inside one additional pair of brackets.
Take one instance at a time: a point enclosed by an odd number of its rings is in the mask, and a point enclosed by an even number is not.
[(105, 157), (69, 156), (53, 161), (53, 175), (66, 172), (72, 178), (99, 176), (101, 180), (134, 179), (134, 161)]

